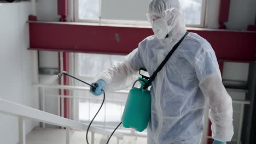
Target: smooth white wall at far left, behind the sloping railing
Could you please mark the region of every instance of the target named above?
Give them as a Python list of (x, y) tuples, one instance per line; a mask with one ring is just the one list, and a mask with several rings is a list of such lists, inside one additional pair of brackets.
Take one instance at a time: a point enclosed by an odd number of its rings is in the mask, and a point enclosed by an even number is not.
[[(0, 98), (38, 108), (32, 88), (32, 52), (28, 51), (31, 3), (0, 3)], [(0, 114), (1, 143), (18, 142), (18, 118)], [(26, 121), (26, 133), (38, 123)]]

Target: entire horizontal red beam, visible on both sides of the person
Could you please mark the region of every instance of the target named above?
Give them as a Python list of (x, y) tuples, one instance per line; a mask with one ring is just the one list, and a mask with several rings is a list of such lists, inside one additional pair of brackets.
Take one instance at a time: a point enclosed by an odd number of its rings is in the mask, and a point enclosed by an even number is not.
[[(256, 32), (188, 30), (208, 40), (218, 59), (254, 61)], [(152, 35), (151, 28), (87, 26), (71, 23), (30, 22), (32, 50), (53, 50), (126, 55)]]

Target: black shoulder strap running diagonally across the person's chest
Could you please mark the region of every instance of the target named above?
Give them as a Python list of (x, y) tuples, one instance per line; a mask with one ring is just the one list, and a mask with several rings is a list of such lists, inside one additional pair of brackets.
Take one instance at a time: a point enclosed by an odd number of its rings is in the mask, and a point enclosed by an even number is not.
[(146, 85), (144, 85), (143, 89), (147, 89), (150, 85), (150, 83), (152, 83), (152, 81), (154, 81), (156, 75), (158, 75), (158, 72), (162, 69), (162, 67), (164, 67), (164, 65), (166, 64), (166, 62), (168, 61), (168, 59), (172, 56), (173, 52), (178, 48), (178, 46), (182, 43), (183, 39), (188, 35), (189, 33), (186, 32), (184, 34), (184, 36), (181, 38), (181, 40), (178, 41), (177, 44), (175, 44), (172, 48), (172, 50), (168, 53), (168, 55), (165, 57), (164, 61), (162, 61), (162, 63), (159, 65), (158, 69), (155, 70), (155, 72), (153, 73), (152, 76), (150, 76), (148, 82), (146, 83)]

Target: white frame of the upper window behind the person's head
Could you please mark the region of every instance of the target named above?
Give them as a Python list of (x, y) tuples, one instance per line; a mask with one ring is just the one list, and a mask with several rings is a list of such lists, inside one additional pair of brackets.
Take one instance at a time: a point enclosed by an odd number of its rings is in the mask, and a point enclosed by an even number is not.
[[(100, 16), (98, 20), (83, 20), (79, 19), (79, 0), (74, 1), (74, 22), (86, 22), (86, 23), (107, 23), (107, 24), (124, 24), (124, 25), (144, 25), (150, 26), (148, 21), (130, 21), (130, 20), (107, 20), (101, 19), (101, 0), (97, 0), (100, 3)], [(202, 0), (202, 9), (201, 9), (201, 23), (199, 25), (186, 25), (186, 27), (205, 27), (205, 20), (206, 20), (206, 4), (207, 0)]]

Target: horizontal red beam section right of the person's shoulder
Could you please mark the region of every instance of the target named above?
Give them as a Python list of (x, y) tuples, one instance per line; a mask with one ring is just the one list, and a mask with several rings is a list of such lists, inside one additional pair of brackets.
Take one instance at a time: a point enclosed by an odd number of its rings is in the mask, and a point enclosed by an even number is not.
[(190, 31), (201, 35), (212, 45), (218, 59), (254, 61), (256, 32)]

